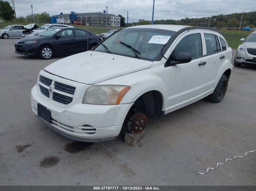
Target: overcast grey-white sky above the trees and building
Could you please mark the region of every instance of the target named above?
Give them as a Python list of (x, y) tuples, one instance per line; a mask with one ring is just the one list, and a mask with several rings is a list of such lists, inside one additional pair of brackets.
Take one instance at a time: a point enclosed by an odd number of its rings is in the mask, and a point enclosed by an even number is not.
[[(12, 1), (7, 0), (12, 6)], [(151, 21), (153, 0), (14, 0), (16, 16), (26, 16), (32, 13), (47, 12), (51, 16), (60, 12), (86, 13), (103, 12), (108, 6), (108, 13), (121, 14), (129, 22), (138, 19)], [(231, 14), (256, 11), (255, 0), (155, 0), (154, 20), (181, 18), (210, 17), (218, 14)]]

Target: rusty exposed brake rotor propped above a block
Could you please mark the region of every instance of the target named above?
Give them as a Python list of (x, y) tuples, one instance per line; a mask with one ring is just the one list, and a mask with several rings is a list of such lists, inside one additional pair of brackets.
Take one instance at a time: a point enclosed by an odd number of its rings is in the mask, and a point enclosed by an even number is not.
[(128, 130), (135, 134), (142, 132), (148, 124), (148, 119), (143, 113), (135, 113), (129, 121)]

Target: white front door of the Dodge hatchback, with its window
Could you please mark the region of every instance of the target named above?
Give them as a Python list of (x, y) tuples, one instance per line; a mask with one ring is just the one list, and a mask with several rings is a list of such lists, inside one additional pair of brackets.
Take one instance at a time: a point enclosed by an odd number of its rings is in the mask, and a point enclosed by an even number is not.
[[(202, 49), (202, 34), (200, 31), (184, 33), (174, 44), (177, 53), (189, 53), (191, 62), (170, 66), (171, 88), (169, 94), (168, 112), (177, 110), (202, 97), (202, 87), (207, 73), (200, 73), (204, 67), (205, 57)], [(172, 51), (172, 50), (171, 50)]]

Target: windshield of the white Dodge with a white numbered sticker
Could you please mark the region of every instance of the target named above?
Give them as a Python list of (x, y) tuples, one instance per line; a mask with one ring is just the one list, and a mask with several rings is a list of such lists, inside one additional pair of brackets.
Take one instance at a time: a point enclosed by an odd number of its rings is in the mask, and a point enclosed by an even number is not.
[[(135, 49), (140, 59), (155, 61), (160, 60), (161, 48), (175, 33), (171, 30), (126, 28), (112, 34), (103, 43), (112, 54), (136, 58)], [(93, 51), (107, 52), (104, 46)]]

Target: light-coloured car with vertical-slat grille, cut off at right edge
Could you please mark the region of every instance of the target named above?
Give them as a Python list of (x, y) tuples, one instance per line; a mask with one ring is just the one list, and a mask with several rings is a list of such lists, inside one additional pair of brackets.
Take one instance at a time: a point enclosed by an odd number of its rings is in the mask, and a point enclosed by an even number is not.
[(236, 50), (234, 66), (256, 65), (256, 31), (252, 32), (246, 39), (240, 39), (243, 43)]

